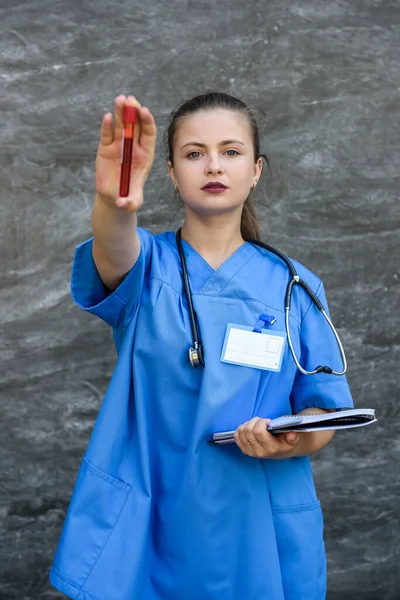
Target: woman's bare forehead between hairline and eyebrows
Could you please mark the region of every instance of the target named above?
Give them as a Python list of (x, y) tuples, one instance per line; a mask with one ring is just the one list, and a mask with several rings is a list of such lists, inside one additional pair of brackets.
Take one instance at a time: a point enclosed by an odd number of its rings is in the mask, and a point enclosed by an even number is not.
[(189, 138), (208, 144), (231, 138), (252, 143), (247, 117), (225, 109), (201, 110), (184, 117), (178, 125), (175, 143), (184, 144)]

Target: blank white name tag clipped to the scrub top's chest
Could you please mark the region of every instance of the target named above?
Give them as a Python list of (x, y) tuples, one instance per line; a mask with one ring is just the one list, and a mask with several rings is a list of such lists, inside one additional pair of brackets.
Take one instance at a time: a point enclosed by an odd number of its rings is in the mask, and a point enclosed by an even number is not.
[(256, 333), (253, 327), (228, 323), (221, 361), (254, 369), (280, 371), (285, 340), (286, 333), (282, 331), (271, 333), (263, 329), (261, 333)]

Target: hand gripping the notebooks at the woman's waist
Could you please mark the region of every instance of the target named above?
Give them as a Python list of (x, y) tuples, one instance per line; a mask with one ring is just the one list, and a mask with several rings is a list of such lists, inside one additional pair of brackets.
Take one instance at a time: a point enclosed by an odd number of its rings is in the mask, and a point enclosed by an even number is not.
[(254, 417), (235, 431), (235, 442), (244, 454), (256, 458), (291, 458), (301, 442), (294, 431), (272, 435), (267, 431), (271, 419)]

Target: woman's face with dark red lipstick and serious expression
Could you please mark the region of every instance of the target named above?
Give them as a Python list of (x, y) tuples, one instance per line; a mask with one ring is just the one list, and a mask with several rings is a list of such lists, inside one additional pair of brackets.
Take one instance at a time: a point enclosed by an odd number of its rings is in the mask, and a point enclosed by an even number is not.
[[(174, 165), (168, 162), (168, 169), (190, 210), (211, 216), (241, 209), (262, 170), (261, 159), (254, 164), (246, 116), (213, 109), (185, 117), (175, 135)], [(226, 189), (203, 189), (212, 182)]]

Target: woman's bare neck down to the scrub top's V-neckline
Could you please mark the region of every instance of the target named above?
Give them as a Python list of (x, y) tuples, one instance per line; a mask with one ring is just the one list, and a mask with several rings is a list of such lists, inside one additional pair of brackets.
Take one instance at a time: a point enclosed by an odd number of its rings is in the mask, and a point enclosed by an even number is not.
[(199, 216), (188, 209), (182, 227), (182, 239), (192, 246), (208, 264), (217, 269), (244, 240), (240, 233), (241, 211), (227, 215)]

